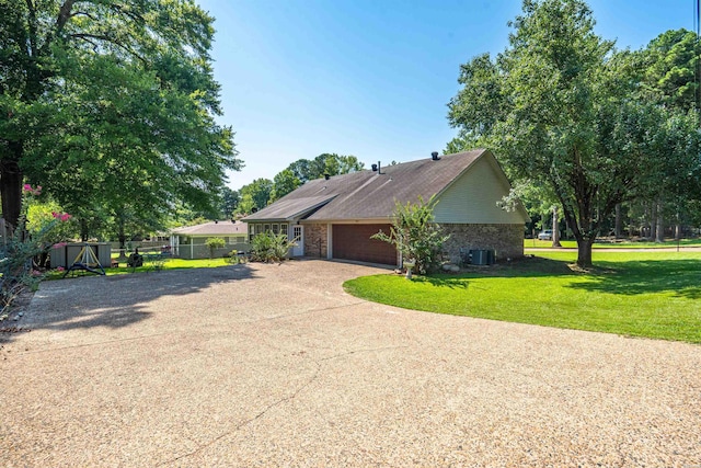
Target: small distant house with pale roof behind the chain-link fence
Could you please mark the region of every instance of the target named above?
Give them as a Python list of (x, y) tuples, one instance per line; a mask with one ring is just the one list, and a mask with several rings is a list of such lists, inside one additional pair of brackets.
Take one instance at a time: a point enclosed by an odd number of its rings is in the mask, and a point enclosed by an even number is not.
[(227, 242), (223, 249), (216, 249), (215, 256), (222, 256), (232, 250), (249, 251), (248, 225), (241, 221), (210, 221), (197, 226), (174, 229), (171, 232), (171, 252), (182, 259), (208, 259), (209, 248), (205, 241), (220, 237)]

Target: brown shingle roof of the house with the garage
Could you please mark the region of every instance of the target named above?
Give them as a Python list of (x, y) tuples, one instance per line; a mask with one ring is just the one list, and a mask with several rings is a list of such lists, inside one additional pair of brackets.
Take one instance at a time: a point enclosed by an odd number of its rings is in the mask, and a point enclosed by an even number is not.
[[(243, 220), (312, 220), (390, 218), (395, 203), (416, 202), (443, 192), (486, 150), (478, 149), (382, 168), (315, 179)], [(330, 201), (329, 203), (325, 203)], [(325, 203), (325, 204), (324, 204)]]

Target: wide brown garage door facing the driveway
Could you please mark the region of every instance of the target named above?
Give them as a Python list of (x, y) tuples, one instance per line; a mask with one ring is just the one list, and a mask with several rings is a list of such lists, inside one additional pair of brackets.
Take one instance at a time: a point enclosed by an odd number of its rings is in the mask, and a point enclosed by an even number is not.
[(333, 225), (333, 258), (397, 265), (394, 246), (370, 239), (380, 229), (390, 233), (390, 225)]

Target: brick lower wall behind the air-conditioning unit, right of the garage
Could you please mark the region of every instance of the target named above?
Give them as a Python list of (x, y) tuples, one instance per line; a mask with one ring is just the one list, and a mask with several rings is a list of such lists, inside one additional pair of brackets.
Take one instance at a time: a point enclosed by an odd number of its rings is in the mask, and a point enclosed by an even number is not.
[(524, 225), (453, 225), (441, 224), (450, 235), (444, 243), (444, 254), (460, 263), (460, 249), (493, 249), (497, 261), (524, 256)]

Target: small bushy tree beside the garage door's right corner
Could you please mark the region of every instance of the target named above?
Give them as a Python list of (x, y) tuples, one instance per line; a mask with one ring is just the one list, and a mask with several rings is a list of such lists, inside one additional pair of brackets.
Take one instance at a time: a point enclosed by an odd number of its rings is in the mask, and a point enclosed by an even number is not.
[(428, 202), (420, 195), (417, 204), (397, 202), (389, 236), (383, 231), (370, 237), (397, 247), (403, 260), (414, 260), (418, 273), (437, 269), (440, 262), (443, 243), (450, 235), (445, 235), (440, 226), (434, 222), (434, 207), (437, 201), (432, 196)]

